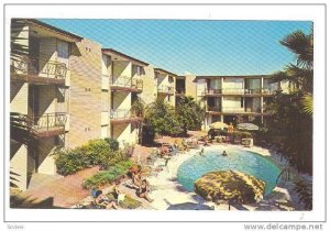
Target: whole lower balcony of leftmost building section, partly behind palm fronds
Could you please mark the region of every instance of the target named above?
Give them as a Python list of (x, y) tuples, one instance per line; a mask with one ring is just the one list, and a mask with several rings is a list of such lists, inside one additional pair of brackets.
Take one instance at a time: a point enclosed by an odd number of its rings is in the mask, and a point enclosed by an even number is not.
[(66, 113), (45, 113), (30, 118), (26, 114), (11, 113), (11, 138), (26, 143), (32, 139), (51, 138), (65, 133)]

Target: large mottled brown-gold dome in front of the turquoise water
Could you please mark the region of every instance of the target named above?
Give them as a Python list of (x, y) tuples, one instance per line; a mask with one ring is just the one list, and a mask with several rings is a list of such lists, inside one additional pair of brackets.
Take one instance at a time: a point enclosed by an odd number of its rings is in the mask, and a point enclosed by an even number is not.
[(211, 172), (195, 182), (195, 191), (216, 204), (253, 204), (263, 199), (265, 183), (251, 175), (234, 172)]

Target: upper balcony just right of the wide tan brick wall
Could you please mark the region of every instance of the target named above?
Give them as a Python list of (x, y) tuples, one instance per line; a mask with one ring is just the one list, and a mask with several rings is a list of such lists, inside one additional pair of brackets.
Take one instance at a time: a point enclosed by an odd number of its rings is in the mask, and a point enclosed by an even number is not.
[(143, 80), (134, 79), (127, 76), (111, 77), (110, 89), (112, 91), (129, 91), (129, 92), (142, 92)]

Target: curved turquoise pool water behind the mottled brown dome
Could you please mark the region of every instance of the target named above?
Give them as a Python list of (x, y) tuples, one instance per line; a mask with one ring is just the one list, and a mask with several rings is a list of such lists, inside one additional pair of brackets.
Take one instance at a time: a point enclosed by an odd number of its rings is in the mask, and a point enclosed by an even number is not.
[(177, 179), (188, 191), (194, 191), (194, 183), (202, 175), (213, 170), (240, 170), (266, 183), (265, 195), (276, 186), (280, 169), (270, 160), (256, 153), (241, 150), (226, 150), (228, 156), (222, 156), (221, 150), (205, 151), (204, 156), (196, 155), (184, 162), (177, 170)]

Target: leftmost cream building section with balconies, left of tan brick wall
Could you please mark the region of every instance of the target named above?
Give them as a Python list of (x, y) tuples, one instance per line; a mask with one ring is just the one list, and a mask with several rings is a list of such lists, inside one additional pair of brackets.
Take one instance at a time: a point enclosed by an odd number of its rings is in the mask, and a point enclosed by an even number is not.
[(56, 173), (51, 154), (69, 130), (70, 48), (82, 37), (36, 20), (13, 20), (11, 37), (10, 170), (25, 189), (33, 173)]

